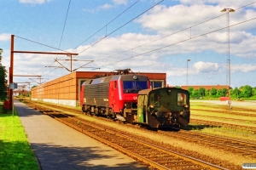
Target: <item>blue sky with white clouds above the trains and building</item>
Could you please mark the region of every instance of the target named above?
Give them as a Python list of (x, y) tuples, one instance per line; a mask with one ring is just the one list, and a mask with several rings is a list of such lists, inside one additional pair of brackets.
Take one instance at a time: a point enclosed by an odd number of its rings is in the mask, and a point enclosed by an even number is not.
[[(173, 86), (226, 85), (230, 72), (232, 88), (256, 87), (255, 17), (255, 0), (1, 0), (2, 65), (15, 35), (15, 51), (79, 54), (73, 71), (166, 73)], [(49, 82), (70, 73), (65, 59), (15, 54), (14, 75)]]

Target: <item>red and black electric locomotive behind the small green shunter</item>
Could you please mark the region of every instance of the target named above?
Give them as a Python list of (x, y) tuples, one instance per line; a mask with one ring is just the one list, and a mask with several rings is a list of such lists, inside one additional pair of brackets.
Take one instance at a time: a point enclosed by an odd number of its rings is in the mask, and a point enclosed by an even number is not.
[(134, 122), (137, 116), (137, 94), (150, 88), (143, 75), (114, 75), (87, 80), (81, 87), (82, 110), (91, 115), (113, 117)]

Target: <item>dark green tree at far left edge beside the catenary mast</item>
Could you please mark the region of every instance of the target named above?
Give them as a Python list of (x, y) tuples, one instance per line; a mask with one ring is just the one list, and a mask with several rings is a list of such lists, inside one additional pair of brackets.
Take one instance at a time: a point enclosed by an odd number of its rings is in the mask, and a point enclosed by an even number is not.
[(2, 53), (3, 49), (0, 48), (0, 100), (3, 101), (7, 99), (6, 94), (6, 85), (7, 80), (5, 79), (7, 77), (7, 71), (5, 69), (5, 66), (2, 65)]

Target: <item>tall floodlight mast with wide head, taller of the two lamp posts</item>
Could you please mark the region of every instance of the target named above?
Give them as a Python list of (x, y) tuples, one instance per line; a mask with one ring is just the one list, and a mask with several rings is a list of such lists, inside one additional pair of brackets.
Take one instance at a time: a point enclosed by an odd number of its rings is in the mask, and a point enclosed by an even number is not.
[[(225, 12), (227, 17), (227, 42), (228, 42), (228, 53), (227, 53), (227, 71), (226, 71), (226, 83), (229, 85), (229, 97), (230, 97), (230, 13), (235, 12), (233, 8), (224, 8), (220, 12)], [(229, 99), (229, 105), (231, 110), (231, 104)]]

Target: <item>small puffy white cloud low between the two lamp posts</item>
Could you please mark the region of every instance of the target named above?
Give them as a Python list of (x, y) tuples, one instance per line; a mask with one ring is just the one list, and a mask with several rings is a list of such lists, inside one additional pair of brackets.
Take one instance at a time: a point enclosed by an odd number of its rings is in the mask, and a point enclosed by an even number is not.
[(199, 61), (193, 65), (193, 68), (197, 73), (209, 73), (209, 72), (218, 72), (219, 65), (218, 63), (202, 62)]

